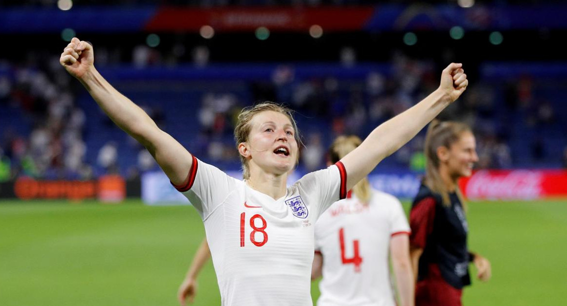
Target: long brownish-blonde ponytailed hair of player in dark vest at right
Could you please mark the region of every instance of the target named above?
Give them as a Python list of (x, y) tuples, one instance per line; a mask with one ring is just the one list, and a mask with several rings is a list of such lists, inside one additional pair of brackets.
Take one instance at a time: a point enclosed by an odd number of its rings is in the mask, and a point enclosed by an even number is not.
[[(441, 173), (439, 173), (439, 158), (437, 149), (439, 147), (450, 148), (451, 145), (462, 137), (463, 133), (472, 133), (471, 128), (466, 124), (455, 121), (439, 121), (437, 119), (431, 121), (427, 134), (425, 136), (425, 177), (424, 184), (431, 189), (432, 192), (441, 195), (442, 203), (450, 206), (449, 192)], [(459, 186), (456, 186), (455, 193), (459, 197), (464, 209), (466, 210), (466, 202), (460, 192)]]

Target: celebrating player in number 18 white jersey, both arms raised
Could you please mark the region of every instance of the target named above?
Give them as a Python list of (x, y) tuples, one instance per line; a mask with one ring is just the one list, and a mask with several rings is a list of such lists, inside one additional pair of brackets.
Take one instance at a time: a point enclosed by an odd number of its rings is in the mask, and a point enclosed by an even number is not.
[(113, 88), (95, 69), (88, 42), (73, 38), (60, 63), (117, 126), (147, 148), (197, 209), (222, 305), (311, 305), (314, 224), (321, 213), (345, 198), (346, 190), (414, 137), (468, 85), (462, 65), (451, 63), (428, 97), (375, 128), (335, 165), (308, 173), (288, 188), (300, 143), (289, 109), (262, 103), (239, 114), (234, 134), (244, 180), (236, 180), (198, 160)]

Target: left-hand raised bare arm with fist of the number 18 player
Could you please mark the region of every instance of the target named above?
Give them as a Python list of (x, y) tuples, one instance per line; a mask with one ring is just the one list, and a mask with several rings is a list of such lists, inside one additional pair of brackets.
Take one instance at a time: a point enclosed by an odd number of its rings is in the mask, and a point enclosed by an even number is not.
[(99, 107), (119, 128), (150, 151), (174, 184), (184, 183), (192, 165), (191, 154), (173, 137), (160, 130), (150, 116), (99, 74), (94, 66), (91, 44), (73, 38), (61, 54), (60, 63), (67, 72), (81, 81)]

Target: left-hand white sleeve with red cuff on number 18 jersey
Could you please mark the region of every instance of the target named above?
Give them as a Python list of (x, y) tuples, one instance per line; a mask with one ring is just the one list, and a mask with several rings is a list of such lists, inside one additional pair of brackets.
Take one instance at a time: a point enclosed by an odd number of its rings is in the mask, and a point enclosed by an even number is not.
[(193, 164), (183, 185), (174, 185), (197, 209), (202, 219), (235, 189), (236, 179), (217, 167), (201, 162), (193, 156)]

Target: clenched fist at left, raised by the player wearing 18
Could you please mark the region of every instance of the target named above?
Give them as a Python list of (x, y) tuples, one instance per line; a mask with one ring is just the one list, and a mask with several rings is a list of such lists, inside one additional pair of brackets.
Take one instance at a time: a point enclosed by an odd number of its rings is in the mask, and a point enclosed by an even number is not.
[(95, 56), (90, 43), (73, 37), (65, 47), (59, 62), (68, 73), (81, 79), (89, 69), (94, 67)]

